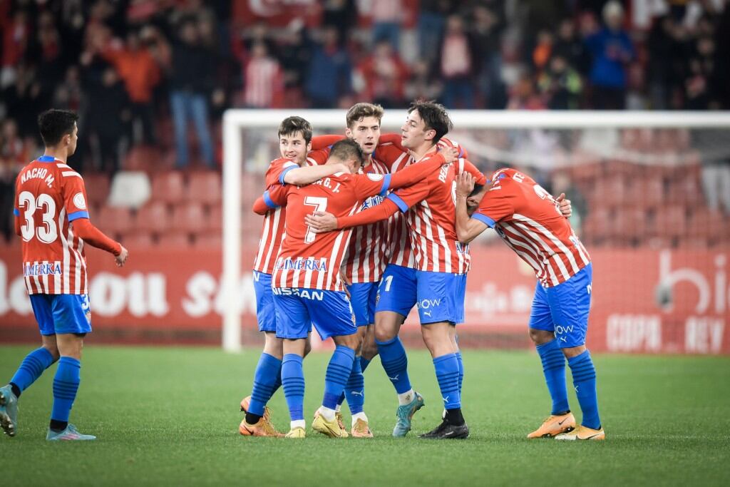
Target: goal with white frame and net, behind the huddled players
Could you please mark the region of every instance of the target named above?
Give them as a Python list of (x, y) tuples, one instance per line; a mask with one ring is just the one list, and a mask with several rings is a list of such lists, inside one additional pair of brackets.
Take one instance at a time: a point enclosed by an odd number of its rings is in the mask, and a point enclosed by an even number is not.
[[(261, 217), (250, 208), (277, 158), (277, 127), (300, 115), (344, 134), (345, 110), (229, 110), (223, 120), (223, 347), (255, 330), (250, 280)], [(405, 110), (388, 110), (397, 132)], [(447, 135), (485, 174), (512, 166), (572, 200), (593, 260), (588, 345), (596, 350), (719, 353), (730, 310), (730, 114), (450, 112)], [(464, 346), (529, 345), (534, 275), (493, 231), (472, 244)], [(245, 317), (245, 320), (242, 320)], [(417, 323), (411, 316), (407, 323)], [(242, 324), (243, 322), (243, 324)], [(405, 326), (410, 340), (418, 326)], [(253, 334), (247, 334), (253, 336)], [(245, 340), (244, 340), (245, 341)], [(420, 338), (418, 338), (420, 341)], [(414, 342), (415, 343), (415, 342)]]

